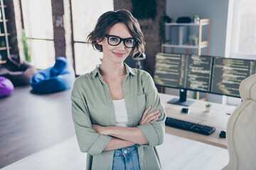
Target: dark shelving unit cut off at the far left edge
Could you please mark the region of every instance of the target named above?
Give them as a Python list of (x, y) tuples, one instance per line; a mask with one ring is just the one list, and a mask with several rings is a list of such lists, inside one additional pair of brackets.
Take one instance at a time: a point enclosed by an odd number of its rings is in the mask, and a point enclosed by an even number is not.
[[(1, 59), (0, 59), (0, 64), (5, 63), (6, 62), (6, 57), (10, 56), (10, 49), (11, 47), (9, 46), (9, 35), (10, 33), (8, 33), (7, 31), (7, 24), (9, 22), (8, 19), (6, 19), (5, 16), (5, 10), (4, 8), (6, 8), (7, 6), (4, 5), (4, 0), (0, 0), (0, 9), (1, 9), (1, 18), (0, 18), (0, 53), (1, 53)], [(4, 37), (4, 38), (2, 38)]]

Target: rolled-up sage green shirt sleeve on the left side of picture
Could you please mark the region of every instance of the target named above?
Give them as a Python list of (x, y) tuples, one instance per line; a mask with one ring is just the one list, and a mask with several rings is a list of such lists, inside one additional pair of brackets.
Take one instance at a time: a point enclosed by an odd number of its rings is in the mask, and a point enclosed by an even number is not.
[(100, 135), (95, 130), (92, 130), (85, 96), (82, 96), (78, 91), (78, 84), (76, 82), (73, 86), (71, 101), (75, 134), (80, 151), (88, 152), (92, 156), (100, 154), (110, 143), (112, 137)]

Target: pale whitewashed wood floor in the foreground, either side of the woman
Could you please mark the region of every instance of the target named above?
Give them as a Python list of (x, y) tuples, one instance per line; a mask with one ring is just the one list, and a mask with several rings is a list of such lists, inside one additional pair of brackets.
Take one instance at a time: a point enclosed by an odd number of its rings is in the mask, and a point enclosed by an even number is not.
[[(166, 134), (157, 147), (164, 170), (219, 170), (228, 164), (228, 150)], [(81, 153), (75, 136), (21, 159), (2, 170), (85, 169), (86, 154)]]

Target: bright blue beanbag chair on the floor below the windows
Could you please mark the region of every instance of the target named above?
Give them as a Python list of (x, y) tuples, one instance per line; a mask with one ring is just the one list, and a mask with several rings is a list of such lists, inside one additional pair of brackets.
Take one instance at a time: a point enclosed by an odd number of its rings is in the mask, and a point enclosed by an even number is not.
[(75, 81), (75, 72), (65, 57), (58, 57), (53, 67), (41, 69), (31, 78), (34, 91), (52, 93), (70, 89)]

